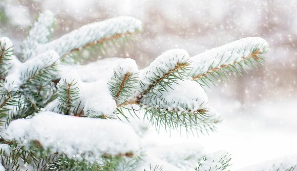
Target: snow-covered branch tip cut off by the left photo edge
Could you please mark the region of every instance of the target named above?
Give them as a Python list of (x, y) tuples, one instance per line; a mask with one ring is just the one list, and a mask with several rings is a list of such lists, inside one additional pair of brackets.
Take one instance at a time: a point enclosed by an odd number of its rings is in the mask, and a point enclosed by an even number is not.
[(12, 66), (13, 44), (8, 37), (0, 38), (0, 77), (3, 79)]

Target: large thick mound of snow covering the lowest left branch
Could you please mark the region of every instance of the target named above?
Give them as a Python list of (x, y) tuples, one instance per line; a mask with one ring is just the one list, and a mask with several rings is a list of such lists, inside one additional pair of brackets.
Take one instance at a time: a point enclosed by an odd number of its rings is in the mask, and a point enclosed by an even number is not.
[(96, 161), (102, 155), (119, 155), (139, 149), (137, 134), (120, 121), (53, 112), (40, 112), (31, 119), (14, 120), (4, 136), (25, 145), (37, 140), (52, 152), (88, 161)]

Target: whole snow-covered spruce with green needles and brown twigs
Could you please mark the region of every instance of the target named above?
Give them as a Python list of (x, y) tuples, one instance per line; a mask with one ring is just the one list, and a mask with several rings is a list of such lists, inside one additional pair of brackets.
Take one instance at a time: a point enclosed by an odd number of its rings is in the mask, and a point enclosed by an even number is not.
[(181, 134), (215, 131), (221, 118), (204, 89), (262, 64), (264, 39), (244, 38), (193, 57), (169, 50), (139, 70), (132, 59), (92, 54), (142, 31), (140, 20), (111, 18), (51, 40), (53, 23), (52, 12), (41, 13), (17, 57), (10, 39), (0, 39), (0, 170), (228, 169), (226, 152), (146, 149), (145, 128), (133, 120)]

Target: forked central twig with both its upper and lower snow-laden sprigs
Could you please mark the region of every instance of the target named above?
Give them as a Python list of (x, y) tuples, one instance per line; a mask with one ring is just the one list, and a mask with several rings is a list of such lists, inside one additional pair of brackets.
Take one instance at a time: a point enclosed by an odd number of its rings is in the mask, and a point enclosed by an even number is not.
[[(145, 111), (144, 117), (156, 127), (184, 127), (187, 132), (214, 131), (220, 118), (208, 105), (202, 87), (189, 80), (189, 65), (186, 51), (164, 52), (140, 72), (135, 99), (121, 103), (118, 108), (138, 104)], [(121, 109), (118, 112), (124, 115)]]

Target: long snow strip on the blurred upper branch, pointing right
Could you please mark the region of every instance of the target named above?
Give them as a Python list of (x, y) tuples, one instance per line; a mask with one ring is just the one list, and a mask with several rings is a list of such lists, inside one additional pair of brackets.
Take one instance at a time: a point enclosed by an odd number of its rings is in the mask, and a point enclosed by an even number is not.
[(40, 44), (36, 52), (55, 50), (60, 56), (88, 43), (100, 41), (117, 34), (142, 30), (142, 23), (134, 17), (121, 16), (85, 25), (51, 42)]

